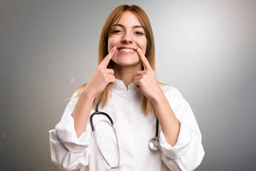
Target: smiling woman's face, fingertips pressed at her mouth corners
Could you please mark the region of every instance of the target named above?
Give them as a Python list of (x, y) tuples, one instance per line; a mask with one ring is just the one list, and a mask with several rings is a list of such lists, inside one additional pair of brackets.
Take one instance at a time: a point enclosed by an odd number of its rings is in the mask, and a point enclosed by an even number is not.
[(113, 24), (108, 38), (108, 52), (116, 46), (115, 55), (111, 58), (121, 66), (141, 65), (137, 48), (145, 55), (147, 39), (140, 21), (132, 12), (124, 12), (120, 20)]

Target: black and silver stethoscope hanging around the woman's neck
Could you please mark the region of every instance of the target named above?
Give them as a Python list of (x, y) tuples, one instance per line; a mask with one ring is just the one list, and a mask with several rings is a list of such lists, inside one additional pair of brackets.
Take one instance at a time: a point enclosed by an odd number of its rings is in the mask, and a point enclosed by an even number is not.
[[(101, 100), (101, 99), (100, 99), (100, 100)], [(100, 100), (99, 100), (99, 102), (100, 102)], [(94, 134), (94, 137), (95, 137), (97, 146), (98, 146), (98, 148), (99, 148), (99, 152), (101, 153), (101, 155), (102, 155), (103, 159), (105, 160), (105, 162), (111, 167), (111, 169), (112, 169), (112, 168), (119, 168), (119, 167), (120, 167), (120, 147), (119, 147), (119, 141), (118, 141), (118, 138), (117, 138), (117, 135), (116, 135), (116, 128), (114, 127), (114, 122), (113, 122), (113, 120), (111, 119), (111, 117), (110, 117), (107, 113), (105, 113), (105, 112), (99, 112), (99, 111), (98, 111), (99, 102), (98, 102), (98, 104), (96, 105), (96, 111), (90, 116), (91, 128), (92, 128), (92, 130), (93, 130), (93, 134)], [(116, 136), (116, 141), (117, 141), (117, 146), (118, 146), (118, 164), (117, 164), (115, 167), (111, 166), (111, 165), (109, 164), (109, 162), (107, 161), (107, 159), (106, 159), (106, 158), (104, 157), (104, 155), (102, 154), (102, 151), (101, 151), (101, 149), (100, 149), (100, 147), (99, 147), (99, 144), (98, 144), (98, 140), (97, 140), (97, 138), (96, 138), (95, 129), (94, 129), (94, 127), (93, 127), (93, 116), (94, 116), (94, 115), (98, 115), (98, 114), (102, 114), (102, 115), (105, 115), (105, 116), (108, 117), (108, 119), (109, 119), (110, 122), (111, 122), (111, 127), (113, 128), (113, 131), (114, 131), (115, 136)], [(159, 151), (159, 150), (160, 150), (160, 148), (159, 148), (159, 141), (158, 141), (158, 139), (157, 139), (157, 137), (158, 137), (158, 129), (159, 129), (159, 121), (158, 121), (158, 119), (157, 119), (156, 127), (157, 127), (157, 128), (156, 128), (156, 137), (150, 139), (150, 141), (149, 141), (149, 143), (148, 143), (149, 148), (150, 148), (151, 150), (153, 150), (153, 151)]]

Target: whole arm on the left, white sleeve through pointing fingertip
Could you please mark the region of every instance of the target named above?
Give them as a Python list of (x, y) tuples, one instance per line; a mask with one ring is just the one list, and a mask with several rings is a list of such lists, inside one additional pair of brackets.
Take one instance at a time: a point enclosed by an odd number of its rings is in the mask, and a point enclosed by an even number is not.
[[(116, 46), (96, 67), (81, 95), (67, 104), (61, 122), (49, 131), (52, 162), (64, 170), (76, 170), (88, 165), (91, 131), (87, 122), (95, 97), (116, 81), (114, 70), (107, 68), (115, 52)], [(77, 93), (72, 97), (77, 96)]]

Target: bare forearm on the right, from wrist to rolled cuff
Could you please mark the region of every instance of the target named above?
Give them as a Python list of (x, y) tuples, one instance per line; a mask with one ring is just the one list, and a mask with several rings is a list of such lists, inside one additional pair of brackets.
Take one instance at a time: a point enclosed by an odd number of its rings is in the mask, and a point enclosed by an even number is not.
[(180, 123), (173, 113), (169, 102), (163, 93), (159, 93), (159, 95), (152, 100), (152, 103), (163, 134), (166, 137), (166, 141), (172, 147), (175, 146), (180, 132)]

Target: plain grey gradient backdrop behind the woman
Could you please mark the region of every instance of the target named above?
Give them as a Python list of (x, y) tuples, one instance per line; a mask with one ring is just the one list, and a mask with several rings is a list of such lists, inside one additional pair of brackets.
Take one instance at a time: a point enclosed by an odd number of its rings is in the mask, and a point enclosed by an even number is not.
[(189, 102), (205, 157), (196, 171), (256, 168), (256, 1), (0, 0), (0, 171), (60, 171), (49, 133), (97, 66), (121, 4), (141, 6), (156, 75)]

